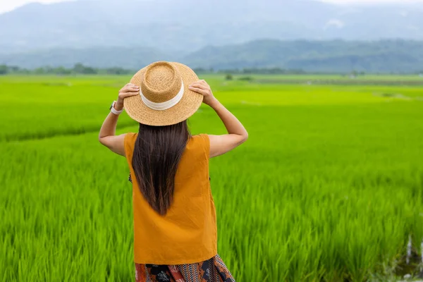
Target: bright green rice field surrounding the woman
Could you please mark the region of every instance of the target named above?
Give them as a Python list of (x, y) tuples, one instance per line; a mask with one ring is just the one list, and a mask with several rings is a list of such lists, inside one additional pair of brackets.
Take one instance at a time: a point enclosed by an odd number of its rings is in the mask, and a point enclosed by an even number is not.
[[(202, 78), (250, 135), (210, 165), (219, 255), (235, 279), (396, 281), (416, 271), (423, 85), (224, 76)], [(0, 281), (134, 280), (128, 164), (98, 142), (129, 79), (0, 77)], [(204, 105), (190, 128), (225, 133)], [(122, 114), (126, 132), (137, 123)]]

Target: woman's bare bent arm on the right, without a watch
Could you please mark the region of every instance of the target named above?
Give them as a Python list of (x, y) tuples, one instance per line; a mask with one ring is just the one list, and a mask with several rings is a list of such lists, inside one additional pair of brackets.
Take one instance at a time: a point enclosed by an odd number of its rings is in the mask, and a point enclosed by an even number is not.
[(248, 133), (243, 124), (214, 97), (207, 82), (200, 80), (190, 85), (189, 88), (204, 96), (204, 104), (211, 106), (216, 111), (228, 131), (228, 134), (225, 135), (209, 135), (211, 158), (225, 154), (247, 140)]

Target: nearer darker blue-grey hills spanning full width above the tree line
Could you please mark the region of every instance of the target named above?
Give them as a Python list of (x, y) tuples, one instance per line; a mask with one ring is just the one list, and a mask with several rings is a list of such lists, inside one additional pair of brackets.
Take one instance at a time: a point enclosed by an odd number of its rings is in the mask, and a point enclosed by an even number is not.
[(383, 40), (378, 42), (256, 40), (223, 47), (204, 47), (188, 55), (164, 54), (137, 47), (53, 49), (23, 54), (0, 54), (0, 64), (37, 68), (71, 67), (75, 63), (106, 68), (139, 69), (153, 61), (180, 61), (192, 68), (286, 68), (317, 72), (365, 71), (411, 73), (423, 71), (423, 42)]

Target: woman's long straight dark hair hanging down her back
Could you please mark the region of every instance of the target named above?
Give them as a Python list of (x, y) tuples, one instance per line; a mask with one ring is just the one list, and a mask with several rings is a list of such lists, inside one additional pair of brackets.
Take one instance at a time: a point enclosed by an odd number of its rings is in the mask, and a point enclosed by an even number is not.
[(173, 202), (176, 170), (189, 138), (187, 121), (166, 126), (140, 123), (132, 164), (142, 195), (161, 215)]

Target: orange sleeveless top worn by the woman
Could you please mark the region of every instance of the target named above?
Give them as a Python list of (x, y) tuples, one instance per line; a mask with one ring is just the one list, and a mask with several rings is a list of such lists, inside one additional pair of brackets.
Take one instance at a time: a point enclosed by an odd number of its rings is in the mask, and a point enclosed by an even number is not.
[(152, 209), (138, 188), (132, 166), (138, 133), (125, 135), (133, 182), (134, 260), (137, 264), (192, 264), (217, 255), (216, 209), (209, 181), (209, 136), (188, 141), (165, 216)]

